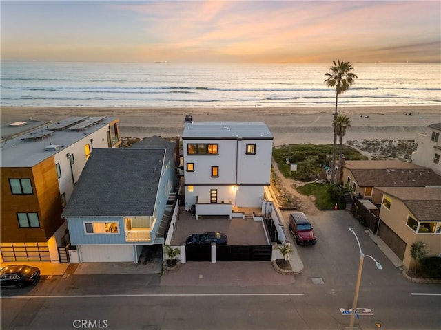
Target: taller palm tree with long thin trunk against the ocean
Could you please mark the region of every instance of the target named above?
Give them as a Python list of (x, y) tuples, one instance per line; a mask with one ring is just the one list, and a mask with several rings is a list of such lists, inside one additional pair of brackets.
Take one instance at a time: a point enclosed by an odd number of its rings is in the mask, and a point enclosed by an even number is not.
[(344, 91), (347, 91), (349, 87), (353, 84), (353, 81), (358, 78), (356, 74), (353, 74), (351, 71), (353, 67), (350, 62), (344, 62), (338, 60), (332, 61), (334, 66), (329, 67), (329, 72), (325, 74), (327, 79), (325, 83), (328, 87), (335, 87), (336, 89), (336, 111), (334, 112), (334, 118), (332, 120), (332, 126), (334, 128), (334, 144), (332, 149), (332, 164), (331, 164), (331, 183), (334, 184), (334, 180), (336, 177), (336, 148), (337, 148), (337, 134), (336, 134), (336, 120), (337, 120), (337, 105), (338, 105), (338, 96), (342, 94)]

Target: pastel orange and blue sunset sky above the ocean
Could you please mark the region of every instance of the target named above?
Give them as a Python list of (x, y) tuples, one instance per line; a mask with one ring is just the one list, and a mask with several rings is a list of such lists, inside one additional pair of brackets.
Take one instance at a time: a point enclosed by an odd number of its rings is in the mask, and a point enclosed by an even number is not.
[(1, 60), (440, 62), (441, 1), (1, 1)]

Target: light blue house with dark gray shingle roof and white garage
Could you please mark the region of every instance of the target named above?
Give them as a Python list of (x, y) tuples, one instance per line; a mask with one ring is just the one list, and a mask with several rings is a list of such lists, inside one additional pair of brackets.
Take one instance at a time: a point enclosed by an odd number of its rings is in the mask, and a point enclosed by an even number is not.
[(143, 249), (163, 245), (176, 209), (175, 146), (169, 143), (94, 150), (63, 212), (75, 247), (72, 263), (137, 263)]

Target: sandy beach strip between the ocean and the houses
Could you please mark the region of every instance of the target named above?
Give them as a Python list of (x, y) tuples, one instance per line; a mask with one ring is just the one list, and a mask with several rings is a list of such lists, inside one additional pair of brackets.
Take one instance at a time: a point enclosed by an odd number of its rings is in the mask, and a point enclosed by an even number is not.
[[(348, 140), (415, 140), (429, 124), (441, 122), (441, 106), (338, 107), (351, 118)], [(1, 107), (1, 124), (29, 118), (59, 120), (72, 115), (118, 117), (121, 137), (181, 136), (185, 115), (194, 121), (261, 121), (274, 135), (274, 145), (332, 143), (334, 107), (283, 108), (92, 108)], [(409, 115), (411, 113), (411, 115)], [(406, 115), (407, 114), (407, 115)]]

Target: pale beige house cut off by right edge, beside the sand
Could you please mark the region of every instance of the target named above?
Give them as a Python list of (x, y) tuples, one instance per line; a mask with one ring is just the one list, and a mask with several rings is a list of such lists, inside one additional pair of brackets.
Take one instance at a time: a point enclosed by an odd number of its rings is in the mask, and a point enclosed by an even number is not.
[(416, 137), (418, 148), (412, 153), (413, 164), (430, 168), (441, 175), (441, 122), (427, 126), (425, 133)]

